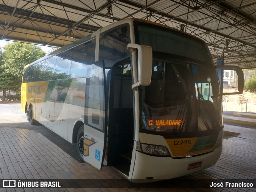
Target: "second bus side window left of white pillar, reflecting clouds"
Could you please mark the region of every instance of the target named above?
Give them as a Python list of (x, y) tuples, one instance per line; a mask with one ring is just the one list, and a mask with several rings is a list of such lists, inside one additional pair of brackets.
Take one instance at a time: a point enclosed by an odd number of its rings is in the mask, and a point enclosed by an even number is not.
[(54, 70), (54, 79), (70, 78), (70, 66), (72, 60), (72, 51), (68, 50), (56, 56), (56, 65)]

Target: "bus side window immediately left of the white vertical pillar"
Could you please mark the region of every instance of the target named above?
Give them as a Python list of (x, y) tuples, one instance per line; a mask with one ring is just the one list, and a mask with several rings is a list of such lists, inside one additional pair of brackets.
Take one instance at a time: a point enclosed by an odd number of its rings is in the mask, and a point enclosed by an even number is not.
[(95, 61), (95, 44), (96, 39), (92, 39), (71, 49), (73, 55), (70, 69), (71, 78), (86, 77), (88, 65)]

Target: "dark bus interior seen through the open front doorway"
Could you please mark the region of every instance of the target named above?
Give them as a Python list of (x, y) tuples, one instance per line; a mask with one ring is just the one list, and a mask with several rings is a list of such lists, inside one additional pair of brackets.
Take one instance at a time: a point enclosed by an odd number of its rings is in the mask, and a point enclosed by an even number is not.
[(117, 63), (108, 71), (106, 87), (109, 87), (109, 89), (107, 88), (107, 95), (109, 96), (107, 164), (124, 174), (124, 176), (128, 176), (134, 139), (130, 59)]

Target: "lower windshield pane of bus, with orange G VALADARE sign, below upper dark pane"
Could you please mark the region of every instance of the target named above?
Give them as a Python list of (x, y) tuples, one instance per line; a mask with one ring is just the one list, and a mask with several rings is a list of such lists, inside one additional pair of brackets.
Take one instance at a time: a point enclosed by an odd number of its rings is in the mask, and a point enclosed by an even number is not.
[(180, 135), (222, 128), (220, 88), (213, 69), (154, 60), (151, 84), (141, 92), (142, 130)]

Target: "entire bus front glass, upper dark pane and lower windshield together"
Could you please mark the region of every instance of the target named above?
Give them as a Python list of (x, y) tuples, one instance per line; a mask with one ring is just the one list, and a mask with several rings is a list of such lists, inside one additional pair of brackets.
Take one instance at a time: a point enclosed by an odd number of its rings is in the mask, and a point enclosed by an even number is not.
[(141, 86), (140, 130), (215, 134), (222, 129), (220, 85), (206, 44), (180, 31), (135, 22), (137, 44), (153, 51), (150, 86)]

